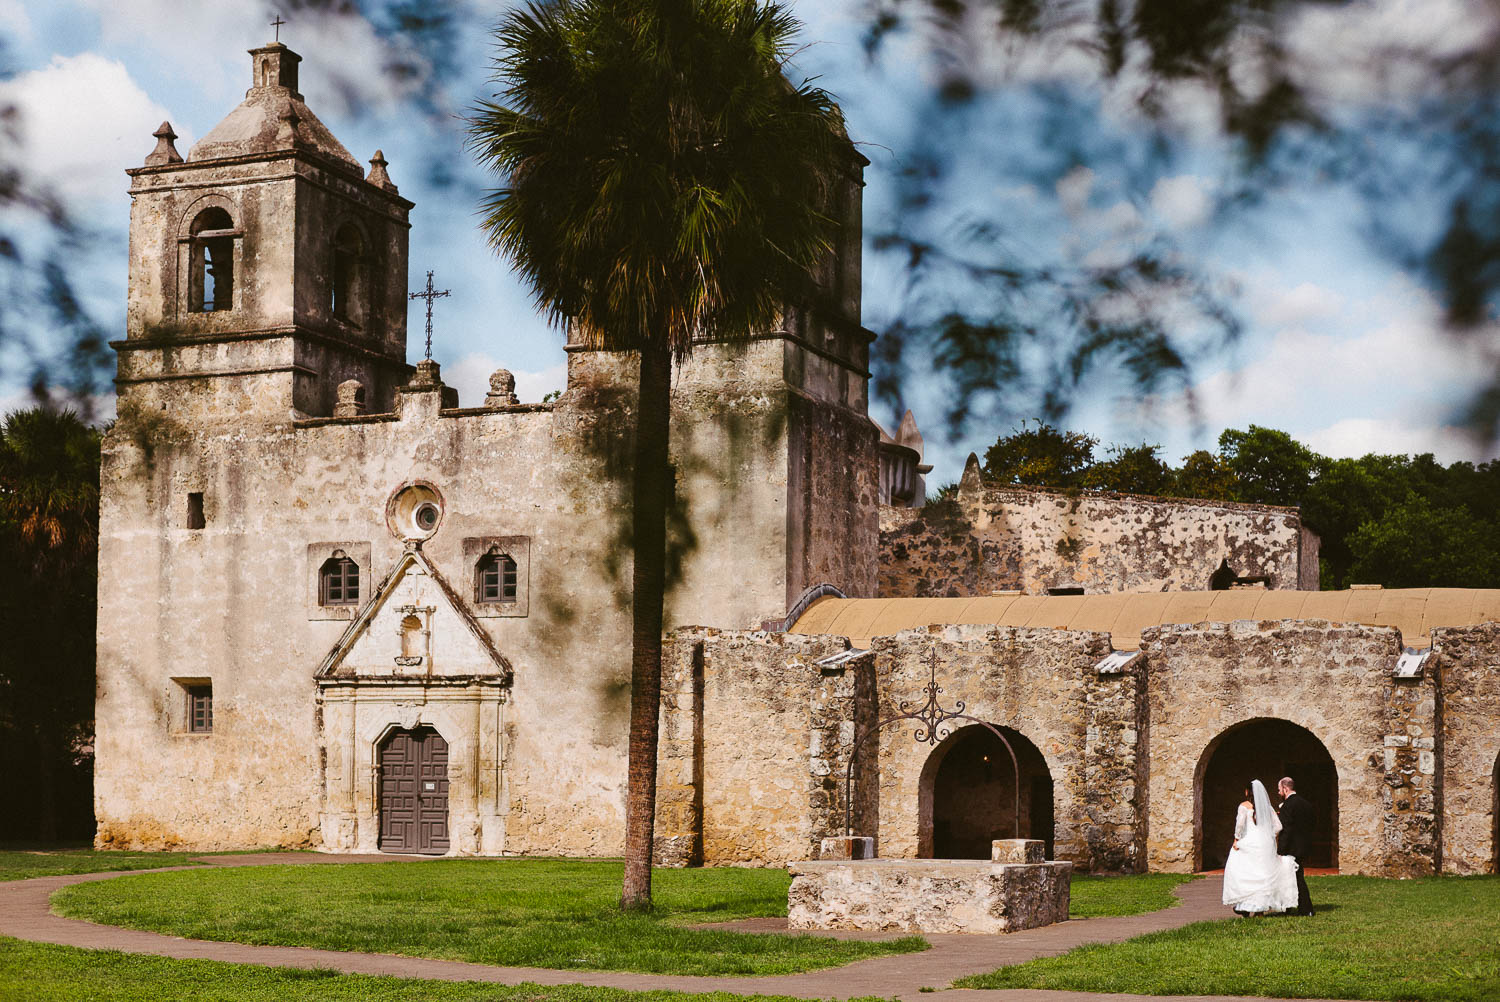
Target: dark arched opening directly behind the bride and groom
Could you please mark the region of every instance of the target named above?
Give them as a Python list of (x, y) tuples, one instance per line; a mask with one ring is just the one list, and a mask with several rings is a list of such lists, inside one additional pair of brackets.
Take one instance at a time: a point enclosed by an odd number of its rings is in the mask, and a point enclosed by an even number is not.
[(1338, 770), (1306, 728), (1258, 717), (1234, 724), (1203, 750), (1192, 780), (1194, 858), (1198, 870), (1218, 870), (1234, 842), (1234, 812), (1251, 780), (1278, 802), (1276, 782), (1290, 776), (1317, 812), (1310, 867), (1338, 866)]

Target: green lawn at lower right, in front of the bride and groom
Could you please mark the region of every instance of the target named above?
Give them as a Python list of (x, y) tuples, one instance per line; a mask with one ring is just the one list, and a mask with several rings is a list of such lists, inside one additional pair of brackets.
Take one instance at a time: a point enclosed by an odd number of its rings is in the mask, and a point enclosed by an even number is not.
[(1082, 946), (966, 988), (1318, 999), (1500, 999), (1500, 878), (1308, 878), (1312, 918), (1226, 918)]

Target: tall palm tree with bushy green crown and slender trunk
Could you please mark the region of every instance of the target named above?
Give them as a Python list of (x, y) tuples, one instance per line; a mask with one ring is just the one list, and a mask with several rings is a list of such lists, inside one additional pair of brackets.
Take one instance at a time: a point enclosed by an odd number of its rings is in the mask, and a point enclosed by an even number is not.
[(470, 146), (490, 244), (584, 345), (640, 358), (632, 488), (624, 908), (651, 902), (672, 363), (810, 297), (852, 152), (783, 75), (798, 22), (758, 0), (538, 0), (495, 28)]

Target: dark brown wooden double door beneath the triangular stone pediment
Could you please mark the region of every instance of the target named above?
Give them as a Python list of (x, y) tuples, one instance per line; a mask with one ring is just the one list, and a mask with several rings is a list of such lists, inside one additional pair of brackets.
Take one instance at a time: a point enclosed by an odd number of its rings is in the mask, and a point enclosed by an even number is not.
[(394, 730), (381, 746), (380, 849), (448, 850), (448, 742), (432, 728)]

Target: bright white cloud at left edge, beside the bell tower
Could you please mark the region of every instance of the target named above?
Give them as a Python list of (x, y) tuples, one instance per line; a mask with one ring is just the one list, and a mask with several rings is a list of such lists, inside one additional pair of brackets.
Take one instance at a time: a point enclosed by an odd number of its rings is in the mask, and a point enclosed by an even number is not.
[(156, 144), (152, 132), (171, 118), (123, 63), (96, 52), (54, 56), (46, 68), (0, 82), (0, 100), (20, 108), (27, 170), (74, 206), (123, 198), (123, 165), (141, 164)]

